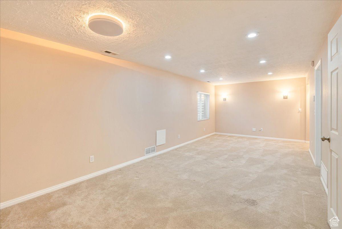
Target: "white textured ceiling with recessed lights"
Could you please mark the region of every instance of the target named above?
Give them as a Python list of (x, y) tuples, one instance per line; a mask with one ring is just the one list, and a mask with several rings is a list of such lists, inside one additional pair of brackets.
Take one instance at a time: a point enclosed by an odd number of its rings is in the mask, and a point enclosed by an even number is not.
[[(107, 49), (215, 85), (305, 77), (341, 7), (340, 0), (0, 3), (2, 28), (94, 52)], [(93, 13), (118, 17), (124, 33), (95, 34), (87, 26)], [(254, 31), (260, 35), (245, 37)]]

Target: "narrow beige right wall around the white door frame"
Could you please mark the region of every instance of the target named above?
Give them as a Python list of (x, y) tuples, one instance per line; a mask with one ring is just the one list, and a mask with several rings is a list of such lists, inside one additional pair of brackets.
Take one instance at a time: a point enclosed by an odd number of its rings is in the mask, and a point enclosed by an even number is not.
[[(342, 2), (342, 1), (341, 1)], [(342, 7), (342, 5), (341, 5)], [(339, 8), (336, 13), (334, 20), (332, 21), (330, 29), (334, 26), (336, 21), (342, 14), (342, 8)], [(315, 66), (311, 67), (310, 71), (307, 73), (306, 81), (310, 81), (310, 151), (315, 158), (315, 102), (313, 101), (313, 96), (315, 95), (315, 67), (317, 63), (321, 60), (321, 74), (322, 74), (322, 133), (321, 135), (329, 135), (328, 128), (328, 34), (321, 48), (317, 52), (314, 62)], [(321, 160), (328, 165), (328, 153), (329, 145), (327, 142), (322, 143), (321, 148)], [(316, 158), (315, 158), (316, 160)]]

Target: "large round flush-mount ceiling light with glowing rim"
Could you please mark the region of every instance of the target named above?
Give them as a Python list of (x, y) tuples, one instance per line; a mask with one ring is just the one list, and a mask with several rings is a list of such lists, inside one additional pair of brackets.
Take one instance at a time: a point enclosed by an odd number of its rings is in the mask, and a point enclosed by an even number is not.
[(103, 36), (114, 37), (123, 33), (123, 24), (109, 15), (92, 15), (89, 17), (88, 26), (91, 31)]

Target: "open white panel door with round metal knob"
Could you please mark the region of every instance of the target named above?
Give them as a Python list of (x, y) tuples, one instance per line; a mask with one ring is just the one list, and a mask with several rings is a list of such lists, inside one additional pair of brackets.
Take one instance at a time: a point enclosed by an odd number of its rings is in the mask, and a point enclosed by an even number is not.
[[(328, 223), (342, 228), (342, 16), (328, 34)], [(322, 139), (324, 140), (324, 139)], [(328, 142), (327, 142), (328, 143)], [(335, 223), (335, 226), (333, 225)], [(336, 223), (338, 226), (336, 226)]]

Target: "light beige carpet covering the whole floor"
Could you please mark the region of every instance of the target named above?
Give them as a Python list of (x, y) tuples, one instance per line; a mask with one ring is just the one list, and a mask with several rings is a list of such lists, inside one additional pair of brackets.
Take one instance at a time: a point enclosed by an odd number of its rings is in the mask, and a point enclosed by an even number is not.
[(329, 228), (307, 149), (212, 135), (4, 208), (1, 228)]

